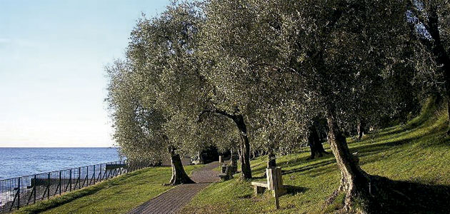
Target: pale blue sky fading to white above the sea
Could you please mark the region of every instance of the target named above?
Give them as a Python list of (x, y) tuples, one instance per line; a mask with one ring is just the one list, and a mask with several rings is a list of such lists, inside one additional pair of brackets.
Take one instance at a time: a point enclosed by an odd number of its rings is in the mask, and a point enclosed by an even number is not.
[(114, 146), (104, 66), (169, 0), (0, 0), (0, 147)]

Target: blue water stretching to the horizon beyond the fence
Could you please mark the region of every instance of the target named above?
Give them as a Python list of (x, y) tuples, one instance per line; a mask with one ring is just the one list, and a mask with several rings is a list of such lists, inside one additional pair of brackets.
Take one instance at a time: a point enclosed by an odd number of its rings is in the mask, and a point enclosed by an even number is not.
[(117, 148), (0, 148), (0, 180), (111, 161)]

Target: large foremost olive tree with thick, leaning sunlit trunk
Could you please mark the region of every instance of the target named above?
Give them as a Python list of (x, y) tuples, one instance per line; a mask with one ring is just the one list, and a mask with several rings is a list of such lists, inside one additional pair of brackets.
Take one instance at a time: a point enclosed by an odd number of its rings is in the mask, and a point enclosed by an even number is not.
[(206, 10), (205, 47), (216, 58), (206, 76), (242, 109), (270, 109), (285, 100), (303, 110), (299, 124), (323, 115), (341, 170), (336, 195), (346, 195), (347, 212), (357, 196), (369, 195), (366, 187), (376, 178), (359, 167), (344, 128), (358, 116), (352, 106), (360, 102), (364, 81), (398, 63), (403, 9), (398, 1), (248, 0), (211, 1)]

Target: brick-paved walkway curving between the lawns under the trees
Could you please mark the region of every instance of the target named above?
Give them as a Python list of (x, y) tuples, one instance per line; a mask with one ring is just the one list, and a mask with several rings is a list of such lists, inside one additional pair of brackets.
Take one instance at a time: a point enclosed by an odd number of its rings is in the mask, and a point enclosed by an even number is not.
[(171, 188), (171, 190), (131, 210), (128, 214), (177, 213), (196, 193), (199, 193), (200, 190), (206, 188), (210, 183), (220, 180), (219, 172), (213, 170), (218, 166), (219, 162), (213, 162), (205, 165), (203, 168), (194, 170), (191, 179), (196, 183), (178, 185), (175, 188)]

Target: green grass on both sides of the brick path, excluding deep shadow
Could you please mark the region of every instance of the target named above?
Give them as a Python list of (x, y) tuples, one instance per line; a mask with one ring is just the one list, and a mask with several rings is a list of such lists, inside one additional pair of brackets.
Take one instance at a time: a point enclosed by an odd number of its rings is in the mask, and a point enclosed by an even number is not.
[[(444, 137), (446, 113), (441, 109), (429, 101), (409, 123), (371, 133), (362, 141), (348, 139), (351, 152), (358, 153), (366, 172), (394, 180), (385, 187), (391, 191), (381, 194), (389, 203), (381, 204), (379, 213), (450, 213), (450, 137)], [(284, 185), (289, 186), (289, 192), (280, 198), (280, 210), (274, 210), (271, 194), (255, 197), (251, 181), (239, 180), (237, 174), (235, 179), (209, 185), (181, 213), (333, 213), (341, 207), (339, 200), (331, 205), (325, 200), (339, 185), (334, 156), (308, 157), (309, 149), (304, 148), (277, 159)], [(186, 171), (199, 167), (188, 166)], [(265, 179), (266, 157), (251, 161), (251, 167), (254, 180)], [(147, 168), (16, 213), (126, 213), (169, 190), (171, 187), (162, 184), (170, 175), (170, 168)]]

